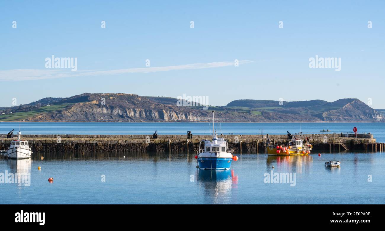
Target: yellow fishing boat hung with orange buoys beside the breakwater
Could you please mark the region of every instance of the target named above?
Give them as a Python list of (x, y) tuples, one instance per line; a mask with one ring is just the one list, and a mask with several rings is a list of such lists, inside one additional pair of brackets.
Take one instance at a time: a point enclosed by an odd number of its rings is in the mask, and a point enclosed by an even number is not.
[(308, 155), (313, 145), (303, 142), (302, 139), (291, 139), (288, 145), (266, 145), (268, 155)]

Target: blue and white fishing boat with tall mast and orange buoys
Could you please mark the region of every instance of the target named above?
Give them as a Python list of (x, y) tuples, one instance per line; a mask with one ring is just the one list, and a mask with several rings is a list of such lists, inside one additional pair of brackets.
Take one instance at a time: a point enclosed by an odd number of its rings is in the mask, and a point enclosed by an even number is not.
[(231, 162), (238, 160), (238, 157), (231, 153), (233, 153), (233, 149), (229, 148), (227, 141), (219, 137), (214, 130), (213, 111), (213, 139), (204, 139), (199, 142), (198, 156), (196, 156), (199, 168), (207, 170), (229, 169)]

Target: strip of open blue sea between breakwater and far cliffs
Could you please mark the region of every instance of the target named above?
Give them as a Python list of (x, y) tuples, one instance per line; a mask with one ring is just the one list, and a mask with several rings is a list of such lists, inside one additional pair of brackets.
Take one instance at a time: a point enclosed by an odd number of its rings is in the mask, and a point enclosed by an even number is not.
[[(211, 126), (211, 127), (210, 127)], [(18, 131), (19, 123), (1, 122), (0, 134), (7, 134), (10, 130)], [(211, 123), (175, 123), (175, 122), (22, 122), (22, 134), (211, 134)], [(357, 127), (358, 132), (371, 132), (377, 142), (385, 142), (385, 123), (220, 123), (215, 124), (215, 129), (222, 134), (286, 134), (286, 131), (296, 133), (320, 132), (329, 129), (332, 132), (353, 132)]]

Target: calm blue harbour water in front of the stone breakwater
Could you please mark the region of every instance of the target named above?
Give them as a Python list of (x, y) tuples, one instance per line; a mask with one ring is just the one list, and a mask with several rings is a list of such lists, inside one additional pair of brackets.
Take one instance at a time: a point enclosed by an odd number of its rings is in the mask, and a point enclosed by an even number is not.
[[(1, 203), (385, 203), (384, 153), (243, 154), (221, 172), (199, 170), (194, 156), (186, 153), (125, 155), (47, 153), (44, 160), (0, 159), (0, 172), (31, 172), (30, 186), (0, 184)], [(341, 160), (341, 167), (325, 167), (328, 160)], [(271, 170), (296, 173), (295, 186), (264, 183)]]

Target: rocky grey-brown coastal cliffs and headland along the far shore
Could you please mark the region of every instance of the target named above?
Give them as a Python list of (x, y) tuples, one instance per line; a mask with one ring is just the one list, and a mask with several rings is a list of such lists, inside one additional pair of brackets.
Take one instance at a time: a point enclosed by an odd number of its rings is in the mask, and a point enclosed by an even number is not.
[[(48, 98), (47, 98), (48, 99)], [(230, 106), (179, 107), (177, 99), (168, 97), (146, 97), (135, 94), (90, 94), (54, 99), (54, 106), (45, 110), (28, 112), (26, 121), (127, 121), (127, 122), (206, 122), (212, 120), (215, 110), (218, 122), (268, 122), (268, 121), (384, 121), (378, 113), (358, 99), (341, 99), (335, 102), (300, 101), (286, 102), (277, 107), (278, 101), (252, 100), (233, 101)], [(238, 105), (239, 103), (240, 105)], [(260, 108), (248, 108), (246, 106)], [(60, 107), (62, 106), (62, 107)], [(264, 107), (269, 106), (269, 107)], [(276, 106), (276, 107), (273, 107)], [(241, 108), (241, 109), (239, 109)], [(11, 110), (8, 108), (7, 110)], [(16, 112), (20, 113), (20, 112)], [(12, 116), (17, 116), (17, 114)], [(10, 114), (11, 115), (11, 114)], [(12, 116), (3, 116), (10, 118)]]

